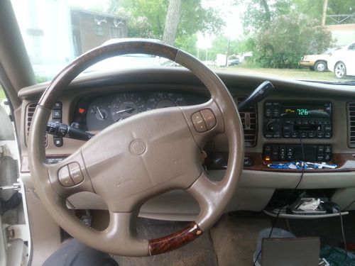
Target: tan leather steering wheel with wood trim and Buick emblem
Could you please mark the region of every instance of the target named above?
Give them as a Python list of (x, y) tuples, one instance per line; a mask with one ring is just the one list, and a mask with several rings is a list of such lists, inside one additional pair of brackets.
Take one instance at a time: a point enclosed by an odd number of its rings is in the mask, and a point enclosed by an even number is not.
[[(187, 67), (207, 87), (211, 99), (126, 118), (105, 128), (62, 162), (48, 165), (43, 137), (58, 95), (90, 65), (132, 53), (165, 57)], [(212, 182), (203, 170), (201, 152), (218, 133), (229, 138), (228, 167), (221, 181)], [(90, 50), (53, 79), (35, 109), (28, 150), (35, 190), (59, 226), (97, 250), (147, 256), (190, 243), (219, 219), (241, 177), (244, 136), (234, 100), (217, 74), (182, 50), (132, 40)], [(172, 189), (183, 189), (197, 200), (200, 214), (196, 220), (163, 238), (138, 238), (136, 218), (141, 205)], [(77, 192), (93, 192), (104, 199), (109, 209), (109, 226), (104, 231), (85, 226), (67, 210), (67, 197)]]

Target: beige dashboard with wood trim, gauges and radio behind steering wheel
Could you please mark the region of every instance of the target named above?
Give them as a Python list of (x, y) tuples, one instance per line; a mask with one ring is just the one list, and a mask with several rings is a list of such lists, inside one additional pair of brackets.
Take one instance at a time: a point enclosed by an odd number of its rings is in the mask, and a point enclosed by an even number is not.
[[(299, 169), (272, 169), (271, 162), (306, 159), (337, 165), (334, 169), (305, 170), (300, 192), (322, 192), (342, 208), (355, 209), (355, 88), (315, 82), (270, 77), (218, 73), (236, 104), (253, 89), (270, 80), (275, 92), (256, 106), (240, 113), (244, 124), (245, 163), (239, 187), (226, 211), (261, 211), (275, 194), (293, 189), (300, 181)], [(31, 110), (48, 84), (21, 89), (23, 100), (16, 110), (21, 123), (21, 173), (31, 179), (28, 170), (26, 138)], [(59, 96), (60, 118), (65, 124), (76, 123), (86, 131), (99, 133), (113, 123), (151, 109), (202, 104), (209, 92), (189, 71), (180, 68), (127, 70), (77, 77)], [(58, 110), (56, 112), (58, 114)], [(119, 138), (119, 136), (117, 137)], [(63, 138), (59, 147), (47, 135), (48, 162), (67, 157), (85, 142)], [(226, 135), (216, 135), (207, 143), (205, 167), (209, 177), (218, 181), (224, 176), (229, 143)], [(268, 160), (266, 160), (268, 159)], [(29, 182), (31, 183), (31, 182)], [(177, 204), (178, 203), (178, 204)], [(75, 194), (68, 206), (77, 209), (105, 209), (94, 194)], [(188, 194), (168, 192), (142, 206), (141, 216), (190, 220), (199, 206)]]

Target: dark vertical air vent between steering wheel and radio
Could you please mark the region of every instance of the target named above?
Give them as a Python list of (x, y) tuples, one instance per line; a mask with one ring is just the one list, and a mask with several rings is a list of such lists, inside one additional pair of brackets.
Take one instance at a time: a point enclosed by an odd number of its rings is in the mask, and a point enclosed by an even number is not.
[[(237, 104), (246, 99), (246, 96), (234, 98)], [(241, 123), (243, 123), (244, 141), (246, 147), (254, 147), (256, 145), (256, 135), (258, 135), (258, 119), (256, 116), (256, 106), (251, 106), (246, 111), (239, 112)]]

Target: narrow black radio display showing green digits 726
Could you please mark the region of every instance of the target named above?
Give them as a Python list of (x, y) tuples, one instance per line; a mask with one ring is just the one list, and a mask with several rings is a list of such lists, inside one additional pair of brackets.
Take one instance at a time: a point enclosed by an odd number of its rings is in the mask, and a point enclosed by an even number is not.
[(330, 118), (330, 104), (315, 105), (283, 105), (280, 114), (282, 118)]

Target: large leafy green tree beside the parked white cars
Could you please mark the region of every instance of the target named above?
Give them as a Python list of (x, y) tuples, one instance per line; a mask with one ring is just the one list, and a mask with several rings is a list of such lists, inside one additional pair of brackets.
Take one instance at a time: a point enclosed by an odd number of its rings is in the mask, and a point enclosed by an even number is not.
[[(328, 6), (334, 1), (328, 0)], [(238, 2), (248, 6), (244, 31), (256, 44), (253, 60), (261, 67), (298, 67), (302, 55), (323, 52), (333, 44), (331, 34), (320, 26), (324, 0)]]

